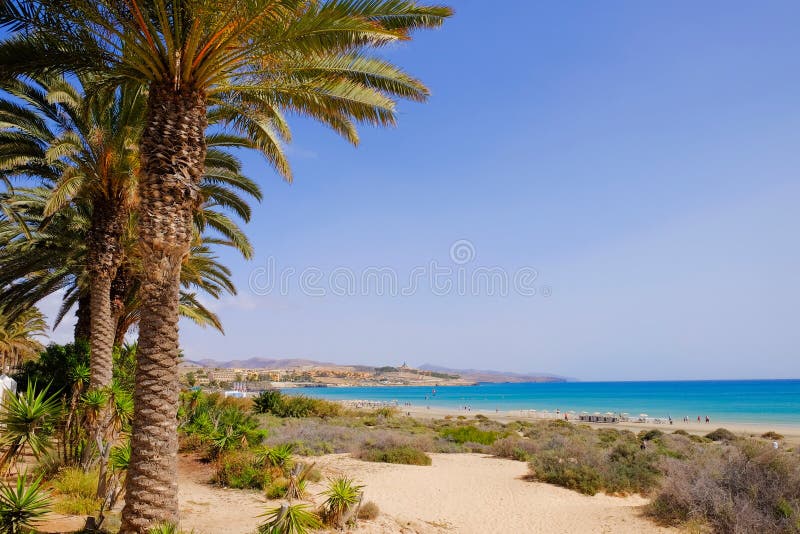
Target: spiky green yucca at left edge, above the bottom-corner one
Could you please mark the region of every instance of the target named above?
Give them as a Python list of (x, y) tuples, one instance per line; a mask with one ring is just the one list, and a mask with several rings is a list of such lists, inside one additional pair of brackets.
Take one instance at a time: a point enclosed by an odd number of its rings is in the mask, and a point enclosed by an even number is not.
[(36, 382), (20, 396), (6, 395), (0, 407), (0, 473), (8, 472), (26, 449), (39, 458), (51, 445), (53, 431), (61, 415), (61, 401), (57, 394), (48, 395), (44, 388), (36, 392)]

